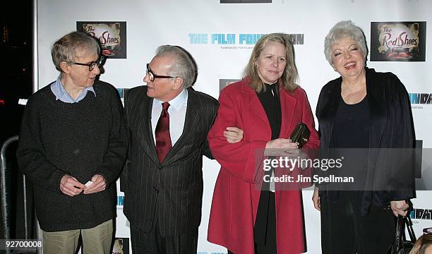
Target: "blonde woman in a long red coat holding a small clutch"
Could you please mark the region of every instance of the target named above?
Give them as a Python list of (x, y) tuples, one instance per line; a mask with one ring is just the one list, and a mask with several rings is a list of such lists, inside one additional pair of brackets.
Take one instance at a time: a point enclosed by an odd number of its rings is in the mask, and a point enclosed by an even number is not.
[[(306, 251), (301, 191), (281, 191), (278, 183), (262, 191), (265, 171), (258, 167), (274, 149), (307, 156), (298, 143), (289, 140), (297, 123), (306, 123), (311, 131), (304, 148), (319, 146), (311, 107), (304, 90), (294, 83), (296, 77), (289, 37), (273, 33), (256, 43), (244, 79), (220, 93), (220, 108), (208, 134), (212, 155), (222, 166), (213, 194), (208, 241), (225, 246), (229, 253)], [(239, 143), (227, 141), (233, 133), (229, 126), (244, 131)]]

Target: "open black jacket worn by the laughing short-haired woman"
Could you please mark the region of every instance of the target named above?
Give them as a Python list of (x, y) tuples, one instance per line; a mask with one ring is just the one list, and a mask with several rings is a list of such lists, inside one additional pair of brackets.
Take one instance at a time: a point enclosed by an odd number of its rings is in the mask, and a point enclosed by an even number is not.
[[(331, 147), (330, 140), (340, 102), (341, 84), (342, 77), (331, 80), (323, 87), (318, 99), (316, 116), (320, 131), (320, 147), (324, 149), (335, 148)], [(366, 92), (371, 124), (369, 147), (413, 148), (414, 126), (411, 106), (407, 91), (397, 76), (393, 73), (377, 73), (374, 69), (366, 68)], [(395, 150), (398, 151), (400, 152)], [(382, 156), (379, 152), (370, 152), (366, 186), (361, 198), (362, 214), (368, 214), (371, 205), (386, 205), (392, 200), (414, 198), (412, 164), (407, 167), (407, 164), (400, 165), (392, 159), (389, 159), (388, 155)], [(385, 169), (390, 177), (379, 177), (382, 174), (380, 169)], [(395, 182), (403, 182), (404, 190), (397, 191), (394, 186), (392, 187)], [(388, 191), (381, 188), (373, 191), (377, 185), (389, 186)], [(320, 196), (337, 200), (337, 192), (325, 191), (325, 186), (320, 186)]]

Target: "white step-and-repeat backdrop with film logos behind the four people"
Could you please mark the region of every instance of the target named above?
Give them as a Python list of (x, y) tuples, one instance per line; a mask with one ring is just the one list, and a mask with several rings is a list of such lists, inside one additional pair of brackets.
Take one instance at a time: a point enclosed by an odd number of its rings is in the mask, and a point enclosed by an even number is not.
[[(196, 90), (219, 97), (220, 87), (241, 78), (251, 50), (260, 36), (270, 32), (292, 35), (299, 69), (298, 83), (306, 90), (315, 111), (321, 87), (337, 78), (323, 54), (324, 37), (340, 20), (353, 20), (363, 28), (369, 51), (368, 66), (395, 73), (407, 87), (412, 102), (416, 139), (432, 147), (432, 42), (426, 24), (432, 18), (432, 1), (426, 0), (37, 0), (37, 73), (39, 87), (51, 83), (55, 70), (50, 47), (77, 27), (101, 37), (104, 65), (101, 80), (124, 89), (143, 85), (145, 63), (161, 44), (184, 47), (196, 59)], [(237, 3), (231, 3), (237, 2)], [(261, 3), (258, 3), (261, 2)], [(379, 60), (379, 61), (375, 61)], [(424, 156), (427, 156), (424, 154)], [(219, 164), (205, 159), (203, 218), (198, 252), (226, 253), (209, 243), (208, 217)], [(423, 163), (422, 170), (431, 165)], [(311, 191), (304, 191), (304, 217), (308, 252), (320, 253), (320, 217), (313, 209)], [(431, 192), (417, 191), (411, 217), (417, 236), (432, 226)], [(117, 205), (116, 253), (131, 253), (128, 222), (122, 212), (123, 193)]]

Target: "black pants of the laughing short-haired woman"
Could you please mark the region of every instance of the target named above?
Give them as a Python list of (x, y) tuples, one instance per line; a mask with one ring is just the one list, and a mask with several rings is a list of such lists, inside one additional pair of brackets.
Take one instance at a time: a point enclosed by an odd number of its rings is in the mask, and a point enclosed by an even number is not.
[[(395, 215), (372, 206), (367, 216), (356, 212), (353, 192), (340, 191), (337, 202), (320, 198), (323, 254), (385, 254), (395, 237)], [(354, 205), (354, 206), (353, 206)]]

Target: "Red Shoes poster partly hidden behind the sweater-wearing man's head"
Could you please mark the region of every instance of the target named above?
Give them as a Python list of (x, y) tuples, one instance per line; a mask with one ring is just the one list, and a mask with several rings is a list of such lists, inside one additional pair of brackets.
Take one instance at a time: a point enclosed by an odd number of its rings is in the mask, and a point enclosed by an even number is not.
[(97, 38), (102, 47), (102, 56), (126, 58), (126, 22), (77, 21), (76, 30)]

